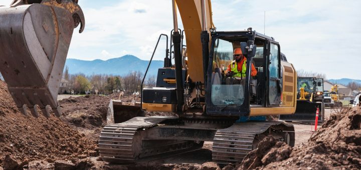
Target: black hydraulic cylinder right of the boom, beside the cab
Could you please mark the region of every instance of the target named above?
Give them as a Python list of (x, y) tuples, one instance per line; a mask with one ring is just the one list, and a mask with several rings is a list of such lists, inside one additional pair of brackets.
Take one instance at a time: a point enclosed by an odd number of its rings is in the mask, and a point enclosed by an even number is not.
[(201, 42), (202, 42), (202, 55), (203, 55), (203, 75), (204, 75), (204, 84), (207, 86), (207, 70), (209, 63), (209, 33), (207, 30), (202, 31), (201, 33)]

